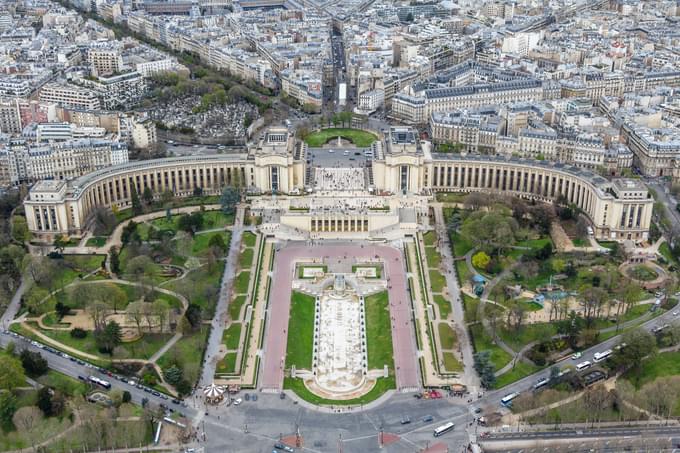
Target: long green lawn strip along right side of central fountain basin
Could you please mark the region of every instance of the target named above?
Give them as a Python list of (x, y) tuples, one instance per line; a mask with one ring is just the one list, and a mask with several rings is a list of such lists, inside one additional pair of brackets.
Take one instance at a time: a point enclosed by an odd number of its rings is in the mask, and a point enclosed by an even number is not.
[(365, 299), (366, 347), (368, 369), (382, 369), (387, 365), (394, 369), (392, 350), (392, 327), (387, 291), (373, 294)]

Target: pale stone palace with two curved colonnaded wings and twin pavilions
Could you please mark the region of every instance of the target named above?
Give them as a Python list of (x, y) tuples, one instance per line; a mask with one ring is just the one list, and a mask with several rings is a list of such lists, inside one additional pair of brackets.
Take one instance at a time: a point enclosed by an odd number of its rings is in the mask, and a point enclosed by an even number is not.
[[(547, 161), (432, 153), (429, 142), (419, 140), (416, 131), (408, 127), (390, 128), (372, 149), (373, 158), (358, 171), (366, 175), (365, 197), (389, 199), (384, 203), (388, 212), (366, 210), (361, 214), (361, 228), (356, 227), (354, 208), (348, 213), (336, 209), (333, 215), (337, 223), (328, 224), (325, 220), (320, 222), (319, 212), (313, 209), (284, 213), (288, 218), (295, 217), (296, 228), (318, 235), (344, 231), (346, 225), (354, 225), (354, 232), (370, 237), (372, 231), (384, 223), (377, 222), (376, 228), (370, 228), (373, 216), (385, 218), (391, 214), (390, 218), (402, 219), (399, 220), (402, 222), (408, 219), (411, 224), (422, 218), (422, 209), (416, 215), (406, 215), (401, 212), (405, 211), (403, 201), (397, 203), (395, 199), (410, 196), (422, 199), (438, 191), (483, 191), (542, 202), (560, 199), (588, 216), (598, 239), (647, 239), (653, 199), (637, 180), (610, 181), (581, 168)], [(133, 188), (139, 194), (149, 188), (155, 197), (166, 191), (186, 197), (194, 194), (196, 188), (204, 194), (219, 194), (225, 186), (238, 185), (250, 194), (263, 197), (295, 195), (295, 202), (303, 205), (305, 199), (348, 198), (342, 190), (314, 191), (314, 181), (310, 180), (313, 172), (307, 171), (310, 164), (306, 152), (307, 146), (286, 128), (270, 128), (257, 144), (243, 153), (137, 161), (68, 182), (41, 181), (33, 186), (24, 201), (28, 226), (38, 240), (49, 241), (63, 234), (80, 236), (95, 208), (128, 208)], [(329, 168), (329, 177), (332, 178), (336, 170)], [(301, 193), (307, 195), (299, 195)], [(354, 223), (346, 223), (345, 215), (354, 216)]]

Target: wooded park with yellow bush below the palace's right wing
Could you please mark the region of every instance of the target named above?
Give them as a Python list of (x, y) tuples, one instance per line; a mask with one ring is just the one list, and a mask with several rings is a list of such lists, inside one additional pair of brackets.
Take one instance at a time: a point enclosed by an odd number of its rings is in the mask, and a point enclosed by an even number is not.
[[(481, 194), (460, 203), (444, 216), (465, 319), (484, 321), (469, 330), (475, 352), (484, 352), (478, 371), (485, 370), (487, 387), (507, 385), (663, 312), (651, 314), (654, 294), (621, 273), (625, 257), (615, 243), (606, 254), (556, 249), (551, 224), (582, 223), (573, 206)], [(430, 255), (433, 242), (424, 239)], [(647, 266), (633, 271), (641, 281), (656, 277)], [(430, 279), (436, 291), (440, 279), (432, 271)], [(489, 302), (480, 310), (482, 293)], [(513, 360), (508, 351), (523, 357), (494, 376)]]

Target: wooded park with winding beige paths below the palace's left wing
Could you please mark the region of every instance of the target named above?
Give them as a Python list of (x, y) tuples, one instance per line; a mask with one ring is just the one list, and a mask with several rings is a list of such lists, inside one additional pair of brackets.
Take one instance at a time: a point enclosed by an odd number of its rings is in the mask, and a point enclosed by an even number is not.
[[(121, 247), (109, 252), (111, 274), (102, 255), (31, 256), (26, 317), (11, 328), (118, 373), (142, 376), (159, 390), (185, 394), (198, 378), (208, 333), (203, 320), (214, 315), (230, 242), (224, 227), (232, 222), (231, 214), (203, 210), (131, 221), (123, 227)], [(242, 265), (254, 259), (249, 250)], [(244, 293), (247, 277), (242, 273)], [(181, 338), (156, 357), (177, 333)], [(152, 359), (162, 376), (144, 367)], [(131, 367), (131, 360), (138, 365)]]

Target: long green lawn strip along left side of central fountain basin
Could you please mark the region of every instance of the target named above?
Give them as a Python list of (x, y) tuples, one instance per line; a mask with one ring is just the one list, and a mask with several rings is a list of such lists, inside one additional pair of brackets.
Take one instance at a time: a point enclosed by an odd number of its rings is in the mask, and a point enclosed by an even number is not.
[(314, 303), (315, 298), (293, 292), (288, 321), (288, 343), (286, 346), (286, 368), (312, 369), (312, 347), (314, 346)]

